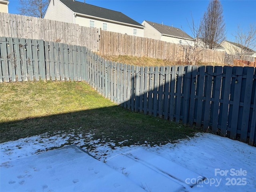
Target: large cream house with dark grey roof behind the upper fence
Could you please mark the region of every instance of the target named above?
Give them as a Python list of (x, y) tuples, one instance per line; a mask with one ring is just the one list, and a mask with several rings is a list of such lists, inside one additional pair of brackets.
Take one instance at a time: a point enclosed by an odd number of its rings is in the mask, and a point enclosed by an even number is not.
[(125, 14), (74, 0), (51, 0), (44, 18), (144, 36), (144, 26)]

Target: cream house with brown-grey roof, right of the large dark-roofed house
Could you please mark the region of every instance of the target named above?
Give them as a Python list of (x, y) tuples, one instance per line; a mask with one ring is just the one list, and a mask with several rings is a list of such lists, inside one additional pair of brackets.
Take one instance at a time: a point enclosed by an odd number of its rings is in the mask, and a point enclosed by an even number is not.
[(144, 20), (144, 37), (182, 45), (194, 45), (194, 40), (179, 28)]

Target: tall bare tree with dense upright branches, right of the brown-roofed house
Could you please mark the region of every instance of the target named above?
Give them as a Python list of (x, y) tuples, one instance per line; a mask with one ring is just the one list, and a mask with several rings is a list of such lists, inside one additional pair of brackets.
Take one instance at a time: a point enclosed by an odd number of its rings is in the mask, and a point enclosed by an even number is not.
[(202, 18), (200, 37), (206, 48), (218, 48), (219, 43), (226, 38), (226, 27), (220, 0), (210, 0), (207, 11)]

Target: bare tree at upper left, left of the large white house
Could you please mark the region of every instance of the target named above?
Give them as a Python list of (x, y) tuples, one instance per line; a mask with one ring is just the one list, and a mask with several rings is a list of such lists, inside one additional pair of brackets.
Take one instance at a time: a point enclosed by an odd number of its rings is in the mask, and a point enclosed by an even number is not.
[(50, 0), (19, 0), (18, 11), (21, 15), (43, 18)]

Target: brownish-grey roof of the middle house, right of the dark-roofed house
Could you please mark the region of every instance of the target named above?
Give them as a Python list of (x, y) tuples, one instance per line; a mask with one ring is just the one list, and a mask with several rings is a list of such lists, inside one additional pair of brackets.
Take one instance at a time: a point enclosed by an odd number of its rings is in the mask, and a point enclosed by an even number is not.
[(192, 37), (190, 37), (188, 34), (186, 34), (184, 31), (182, 31), (179, 28), (154, 23), (154, 22), (151, 22), (151, 21), (146, 21), (146, 22), (148, 24), (150, 24), (152, 27), (154, 27), (156, 30), (158, 30), (162, 35), (174, 36), (174, 37), (178, 37), (178, 38), (193, 40)]

